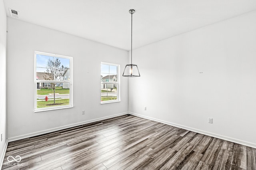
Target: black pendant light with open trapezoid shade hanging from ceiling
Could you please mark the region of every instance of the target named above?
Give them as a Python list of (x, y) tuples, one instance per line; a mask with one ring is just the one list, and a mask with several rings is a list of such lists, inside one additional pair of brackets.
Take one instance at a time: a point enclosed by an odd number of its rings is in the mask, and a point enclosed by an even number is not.
[[(134, 14), (135, 10), (129, 10), (129, 13)], [(123, 76), (126, 77), (140, 77), (140, 72), (137, 65), (132, 64), (132, 29), (131, 29), (131, 63), (124, 68)]]

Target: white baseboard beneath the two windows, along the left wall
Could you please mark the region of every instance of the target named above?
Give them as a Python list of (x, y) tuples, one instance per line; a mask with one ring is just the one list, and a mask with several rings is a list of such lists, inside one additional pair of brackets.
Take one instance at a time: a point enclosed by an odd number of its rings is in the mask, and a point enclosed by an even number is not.
[(46, 133), (50, 133), (50, 132), (55, 132), (55, 131), (58, 131), (58, 130), (63, 130), (65, 128), (76, 127), (76, 126), (79, 126), (79, 125), (84, 125), (86, 123), (102, 121), (104, 119), (109, 119), (109, 118), (112, 118), (112, 117), (122, 116), (122, 115), (126, 115), (126, 114), (128, 114), (128, 112), (119, 113), (119, 114), (111, 115), (111, 116), (107, 116), (107, 117), (101, 117), (101, 118), (98, 118), (98, 119), (92, 119), (92, 120), (89, 120), (89, 121), (73, 123), (73, 124), (65, 125), (65, 126), (61, 126), (61, 127), (50, 128), (50, 129), (47, 129), (47, 130), (42, 130), (42, 131), (33, 132), (33, 133), (29, 133), (29, 134), (24, 134), (24, 135), (20, 135), (20, 136), (15, 136), (15, 137), (8, 138), (8, 141), (12, 142), (12, 141), (15, 141), (15, 140), (20, 140), (20, 139), (24, 139), (24, 138), (33, 137), (33, 136), (38, 136), (40, 134), (46, 134)]

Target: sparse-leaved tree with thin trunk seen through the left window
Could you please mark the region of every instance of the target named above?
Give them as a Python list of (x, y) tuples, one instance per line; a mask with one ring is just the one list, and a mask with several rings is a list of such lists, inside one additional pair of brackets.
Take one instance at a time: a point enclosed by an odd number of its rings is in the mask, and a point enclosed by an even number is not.
[[(55, 60), (48, 59), (46, 66), (45, 80), (61, 81), (63, 80), (64, 73), (68, 70), (68, 67), (60, 66), (60, 60), (56, 58)], [(51, 83), (51, 89), (54, 91), (54, 104), (55, 104), (55, 89), (57, 83)]]

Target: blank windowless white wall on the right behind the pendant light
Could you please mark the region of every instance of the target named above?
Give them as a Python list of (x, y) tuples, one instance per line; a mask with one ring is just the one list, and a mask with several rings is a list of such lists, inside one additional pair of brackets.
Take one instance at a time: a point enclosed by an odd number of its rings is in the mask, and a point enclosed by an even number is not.
[(256, 147), (255, 21), (254, 11), (134, 49), (129, 112)]

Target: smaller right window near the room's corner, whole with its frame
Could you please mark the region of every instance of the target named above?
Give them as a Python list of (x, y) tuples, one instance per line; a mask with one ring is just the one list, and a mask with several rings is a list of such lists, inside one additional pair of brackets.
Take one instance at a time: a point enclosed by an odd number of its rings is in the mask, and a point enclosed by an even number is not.
[(101, 103), (120, 101), (119, 85), (120, 65), (101, 63)]

